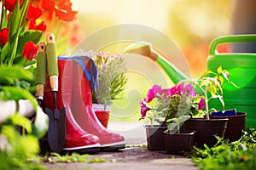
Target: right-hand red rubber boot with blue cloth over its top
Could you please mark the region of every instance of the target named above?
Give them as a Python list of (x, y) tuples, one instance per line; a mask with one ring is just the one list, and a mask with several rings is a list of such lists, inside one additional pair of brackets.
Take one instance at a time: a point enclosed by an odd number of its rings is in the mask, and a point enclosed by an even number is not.
[[(94, 134), (100, 139), (101, 150), (118, 150), (125, 148), (125, 139), (118, 133), (110, 133), (108, 129), (102, 126), (102, 123), (96, 117), (92, 110), (92, 99), (90, 82), (95, 80), (90, 75), (96, 75), (92, 71), (91, 65), (95, 65), (90, 58), (76, 59), (73, 63), (73, 94), (72, 94), (72, 111), (75, 120), (88, 133)], [(82, 61), (82, 62), (81, 62)], [(84, 69), (83, 69), (84, 68)], [(95, 66), (96, 68), (96, 66)]]

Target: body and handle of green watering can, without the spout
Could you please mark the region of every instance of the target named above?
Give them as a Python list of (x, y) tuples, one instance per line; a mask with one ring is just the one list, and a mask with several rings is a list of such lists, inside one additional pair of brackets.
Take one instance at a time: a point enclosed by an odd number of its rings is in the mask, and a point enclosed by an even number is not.
[[(238, 88), (230, 84), (224, 86), (225, 109), (236, 108), (238, 112), (246, 112), (246, 126), (256, 127), (256, 54), (218, 54), (216, 50), (219, 44), (236, 42), (256, 42), (256, 35), (232, 35), (214, 39), (210, 45), (207, 70), (216, 71), (222, 65), (223, 69), (230, 71), (230, 81)], [(221, 109), (217, 101), (212, 100), (209, 105)]]

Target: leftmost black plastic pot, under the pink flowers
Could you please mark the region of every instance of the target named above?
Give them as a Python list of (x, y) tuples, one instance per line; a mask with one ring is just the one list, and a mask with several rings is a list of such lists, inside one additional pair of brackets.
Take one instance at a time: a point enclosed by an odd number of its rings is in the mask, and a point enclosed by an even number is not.
[(147, 134), (148, 150), (165, 150), (165, 139), (163, 132), (166, 131), (166, 126), (160, 125), (145, 125)]

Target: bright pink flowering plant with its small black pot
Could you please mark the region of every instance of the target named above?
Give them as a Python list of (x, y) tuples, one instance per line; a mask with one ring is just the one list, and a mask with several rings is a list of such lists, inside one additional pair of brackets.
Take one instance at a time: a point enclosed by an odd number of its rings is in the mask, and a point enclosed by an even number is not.
[[(200, 95), (195, 94), (191, 84), (180, 83), (172, 88), (154, 85), (148, 90), (147, 98), (144, 98), (140, 105), (140, 119), (148, 118), (151, 122), (145, 126), (148, 150), (165, 150), (163, 133), (167, 127), (166, 134), (176, 131), (180, 133), (182, 123), (190, 118), (190, 114), (198, 114), (204, 107), (204, 101)], [(154, 122), (161, 123), (156, 125)]]

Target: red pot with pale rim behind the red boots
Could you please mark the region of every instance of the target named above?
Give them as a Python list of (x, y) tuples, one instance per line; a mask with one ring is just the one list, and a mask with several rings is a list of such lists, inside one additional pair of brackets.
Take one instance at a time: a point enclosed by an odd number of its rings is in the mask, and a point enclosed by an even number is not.
[(111, 105), (92, 104), (92, 109), (98, 120), (102, 123), (102, 126), (107, 128)]

